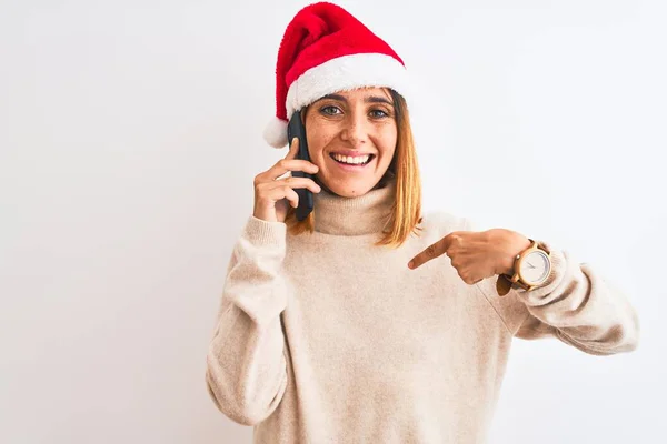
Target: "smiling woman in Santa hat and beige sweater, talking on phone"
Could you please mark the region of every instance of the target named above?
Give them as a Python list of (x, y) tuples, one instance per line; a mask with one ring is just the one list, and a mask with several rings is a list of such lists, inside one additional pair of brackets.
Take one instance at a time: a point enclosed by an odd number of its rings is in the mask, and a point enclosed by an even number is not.
[[(546, 279), (502, 290), (498, 276), (515, 275), (537, 243), (421, 214), (405, 67), (347, 11), (299, 11), (276, 73), (266, 138), (286, 145), (299, 112), (310, 161), (292, 141), (257, 175), (207, 367), (216, 405), (255, 425), (255, 442), (479, 443), (512, 337), (635, 349), (626, 297), (566, 251), (539, 242)], [(298, 189), (315, 199), (303, 221)]]

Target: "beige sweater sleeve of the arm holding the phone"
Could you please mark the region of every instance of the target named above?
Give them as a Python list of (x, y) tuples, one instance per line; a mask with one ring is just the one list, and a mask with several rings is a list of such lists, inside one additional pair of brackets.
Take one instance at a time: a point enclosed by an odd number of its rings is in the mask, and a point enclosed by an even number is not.
[(218, 410), (242, 425), (267, 418), (287, 387), (285, 253), (286, 225), (251, 215), (227, 269), (206, 382)]

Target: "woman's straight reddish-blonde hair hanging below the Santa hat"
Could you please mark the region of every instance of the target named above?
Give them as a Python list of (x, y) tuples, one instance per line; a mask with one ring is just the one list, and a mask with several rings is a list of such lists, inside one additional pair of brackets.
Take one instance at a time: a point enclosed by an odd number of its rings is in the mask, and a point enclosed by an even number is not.
[[(417, 162), (417, 152), (410, 127), (410, 115), (406, 100), (394, 90), (389, 90), (394, 101), (396, 125), (398, 129), (396, 151), (387, 172), (380, 179), (386, 182), (396, 178), (396, 200), (391, 205), (391, 218), (389, 228), (385, 230), (384, 236), (376, 245), (400, 246), (410, 235), (418, 233), (421, 229), (421, 178)], [(291, 234), (301, 234), (315, 231), (315, 218), (317, 208), (302, 221), (298, 221), (296, 210), (290, 206), (286, 216), (286, 224)]]

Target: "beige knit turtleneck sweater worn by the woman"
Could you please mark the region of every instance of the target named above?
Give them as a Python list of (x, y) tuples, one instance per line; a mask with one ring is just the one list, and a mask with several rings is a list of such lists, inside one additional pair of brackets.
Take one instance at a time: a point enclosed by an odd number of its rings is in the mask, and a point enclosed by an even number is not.
[(255, 443), (484, 443), (512, 337), (557, 337), (586, 353), (636, 347), (627, 299), (567, 251), (547, 283), (499, 297), (444, 255), (408, 261), (451, 231), (427, 214), (399, 249), (374, 246), (392, 182), (345, 199), (315, 195), (316, 233), (250, 216), (232, 252), (206, 380)]

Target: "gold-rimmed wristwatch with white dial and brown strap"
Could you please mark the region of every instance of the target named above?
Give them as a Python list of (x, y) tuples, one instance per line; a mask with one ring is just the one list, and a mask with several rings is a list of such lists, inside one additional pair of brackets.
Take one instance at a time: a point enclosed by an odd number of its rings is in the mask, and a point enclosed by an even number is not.
[(551, 272), (551, 252), (542, 243), (529, 239), (530, 246), (517, 254), (515, 273), (499, 274), (496, 290), (500, 296), (509, 293), (510, 289), (521, 287), (530, 291), (540, 286)]

